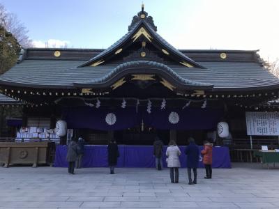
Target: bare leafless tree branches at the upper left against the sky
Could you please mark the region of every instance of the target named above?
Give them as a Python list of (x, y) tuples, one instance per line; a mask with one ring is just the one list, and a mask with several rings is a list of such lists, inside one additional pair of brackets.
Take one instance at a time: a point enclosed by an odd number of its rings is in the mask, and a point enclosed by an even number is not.
[(6, 8), (1, 3), (0, 25), (3, 26), (6, 31), (12, 33), (22, 47), (33, 47), (32, 40), (27, 36), (28, 30), (24, 24), (18, 20), (17, 15), (8, 13)]

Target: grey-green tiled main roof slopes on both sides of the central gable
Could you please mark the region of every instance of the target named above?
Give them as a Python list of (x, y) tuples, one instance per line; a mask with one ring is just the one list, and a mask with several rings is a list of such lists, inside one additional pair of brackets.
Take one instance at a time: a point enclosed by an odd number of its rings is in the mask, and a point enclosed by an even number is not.
[[(119, 65), (76, 68), (83, 61), (24, 60), (0, 77), (0, 84), (47, 88), (72, 88), (75, 82), (102, 80)], [(206, 69), (165, 63), (181, 79), (213, 85), (213, 89), (269, 88), (279, 79), (255, 62), (199, 62)]]

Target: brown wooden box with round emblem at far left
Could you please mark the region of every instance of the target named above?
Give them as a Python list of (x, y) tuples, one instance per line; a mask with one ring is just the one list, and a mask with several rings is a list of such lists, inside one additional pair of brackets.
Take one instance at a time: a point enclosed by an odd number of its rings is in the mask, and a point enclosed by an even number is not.
[(55, 150), (54, 142), (1, 142), (0, 163), (9, 164), (51, 164)]

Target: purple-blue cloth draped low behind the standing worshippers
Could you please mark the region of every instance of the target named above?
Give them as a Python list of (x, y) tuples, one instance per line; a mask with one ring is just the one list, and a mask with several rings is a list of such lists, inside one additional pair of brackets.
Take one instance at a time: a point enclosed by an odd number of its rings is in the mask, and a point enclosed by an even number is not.
[[(181, 156), (179, 157), (181, 167), (186, 167), (186, 155), (184, 150), (186, 146), (179, 146)], [(202, 150), (203, 146), (199, 146)], [(163, 153), (163, 164), (165, 162), (165, 150)], [(155, 158), (153, 157), (153, 146), (119, 146), (120, 157), (118, 158), (117, 167), (155, 167)], [(57, 146), (54, 167), (68, 167), (66, 162), (67, 146)], [(107, 167), (107, 146), (85, 146), (85, 153), (82, 162), (82, 167)], [(204, 165), (199, 162), (199, 167)], [(213, 168), (231, 168), (229, 157), (229, 149), (227, 147), (213, 147)]]

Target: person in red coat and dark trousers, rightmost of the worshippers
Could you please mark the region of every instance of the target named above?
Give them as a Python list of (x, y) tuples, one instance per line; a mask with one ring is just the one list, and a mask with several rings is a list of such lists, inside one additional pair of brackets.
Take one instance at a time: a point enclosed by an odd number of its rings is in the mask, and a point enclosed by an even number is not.
[(213, 144), (209, 141), (204, 141), (204, 149), (202, 150), (202, 155), (204, 155), (202, 162), (204, 163), (206, 176), (204, 178), (212, 177), (212, 146)]

